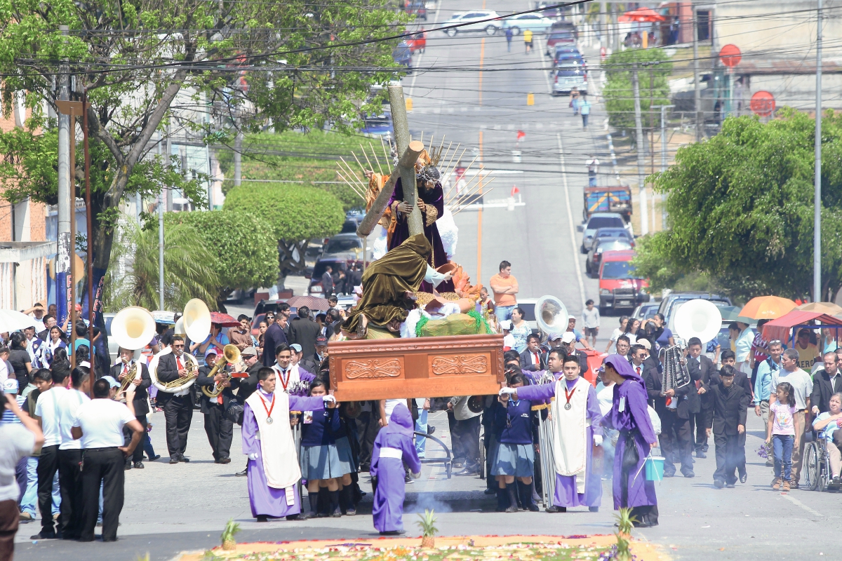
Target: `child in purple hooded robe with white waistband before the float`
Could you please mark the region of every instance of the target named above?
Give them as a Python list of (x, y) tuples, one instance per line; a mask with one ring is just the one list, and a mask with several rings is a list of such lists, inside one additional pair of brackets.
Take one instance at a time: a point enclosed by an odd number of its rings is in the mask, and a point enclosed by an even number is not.
[(403, 497), (406, 476), (403, 463), (413, 474), (421, 473), (421, 461), (413, 442), (413, 415), (406, 405), (398, 404), (374, 441), (371, 451), (371, 477), (377, 478), (374, 492), (374, 527), (378, 532), (403, 530)]

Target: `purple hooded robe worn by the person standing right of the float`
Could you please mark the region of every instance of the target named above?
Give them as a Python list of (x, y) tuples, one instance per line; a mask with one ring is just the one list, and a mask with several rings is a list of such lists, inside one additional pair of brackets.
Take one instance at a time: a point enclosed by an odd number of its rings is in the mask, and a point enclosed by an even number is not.
[[(646, 469), (643, 468), (652, 442), (658, 442), (652, 421), (647, 410), (646, 384), (632, 370), (626, 357), (610, 355), (605, 358), (626, 381), (614, 384), (614, 405), (605, 415), (605, 426), (620, 431), (614, 456), (614, 509), (623, 506), (657, 505), (655, 483), (647, 481)], [(621, 400), (623, 410), (620, 410)], [(637, 463), (623, 468), (623, 456), (626, 453), (626, 440), (637, 447)]]

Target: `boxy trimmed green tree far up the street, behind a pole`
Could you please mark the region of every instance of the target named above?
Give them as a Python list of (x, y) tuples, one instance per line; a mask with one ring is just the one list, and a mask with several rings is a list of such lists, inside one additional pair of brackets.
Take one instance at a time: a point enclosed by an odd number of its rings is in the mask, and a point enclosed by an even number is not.
[(605, 62), (607, 79), (602, 95), (608, 119), (616, 129), (634, 129), (634, 88), (632, 87), (632, 65), (637, 63), (637, 77), (640, 89), (640, 108), (643, 126), (660, 126), (660, 109), (649, 123), (650, 105), (669, 104), (669, 83), (672, 62), (663, 49), (618, 50)]

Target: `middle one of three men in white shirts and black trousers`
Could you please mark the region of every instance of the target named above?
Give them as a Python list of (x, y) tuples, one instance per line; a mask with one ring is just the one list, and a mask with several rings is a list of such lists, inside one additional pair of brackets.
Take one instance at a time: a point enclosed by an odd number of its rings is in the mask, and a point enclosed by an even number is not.
[(79, 539), (82, 536), (82, 442), (73, 438), (73, 420), (77, 411), (91, 399), (90, 370), (85, 367), (73, 368), (70, 375), (72, 389), (64, 392), (59, 403), (59, 429), (61, 444), (58, 446), (58, 483), (61, 490), (61, 517), (59, 531), (66, 540)]

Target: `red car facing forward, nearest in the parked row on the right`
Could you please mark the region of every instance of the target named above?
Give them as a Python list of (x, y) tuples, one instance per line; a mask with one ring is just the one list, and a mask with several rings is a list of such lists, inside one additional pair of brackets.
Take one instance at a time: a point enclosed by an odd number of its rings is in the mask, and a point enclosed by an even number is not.
[(608, 310), (634, 310), (649, 301), (647, 279), (640, 278), (632, 266), (632, 250), (605, 251), (600, 263), (600, 314)]

